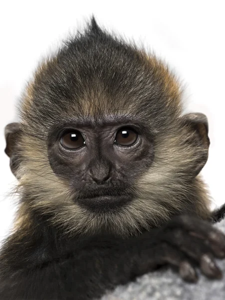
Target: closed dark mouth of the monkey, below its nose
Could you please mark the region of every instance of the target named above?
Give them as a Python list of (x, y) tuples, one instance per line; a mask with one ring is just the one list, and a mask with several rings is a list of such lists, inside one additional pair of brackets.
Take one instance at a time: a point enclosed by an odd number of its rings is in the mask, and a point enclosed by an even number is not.
[(99, 195), (76, 199), (81, 206), (99, 212), (117, 210), (119, 207), (126, 205), (131, 200), (131, 196), (128, 195)]

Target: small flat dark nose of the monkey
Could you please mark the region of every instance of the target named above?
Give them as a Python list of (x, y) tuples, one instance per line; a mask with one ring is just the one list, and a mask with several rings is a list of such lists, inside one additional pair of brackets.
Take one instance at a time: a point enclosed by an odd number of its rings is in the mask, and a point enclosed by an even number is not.
[(106, 162), (95, 162), (90, 166), (89, 174), (97, 184), (103, 184), (110, 178), (110, 165)]

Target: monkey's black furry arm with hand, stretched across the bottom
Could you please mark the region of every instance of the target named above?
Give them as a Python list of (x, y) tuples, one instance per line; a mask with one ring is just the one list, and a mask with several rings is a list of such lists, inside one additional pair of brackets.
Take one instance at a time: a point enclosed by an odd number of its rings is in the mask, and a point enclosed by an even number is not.
[(51, 258), (51, 250), (37, 244), (32, 253), (26, 246), (18, 245), (18, 256), (15, 250), (11, 260), (10, 253), (7, 259), (1, 257), (0, 299), (92, 299), (163, 264), (177, 267), (189, 281), (197, 280), (195, 264), (217, 278), (221, 271), (213, 255), (225, 256), (224, 234), (191, 216), (175, 217), (162, 228), (130, 239), (78, 239), (70, 249), (65, 243), (63, 250), (62, 244), (60, 255)]

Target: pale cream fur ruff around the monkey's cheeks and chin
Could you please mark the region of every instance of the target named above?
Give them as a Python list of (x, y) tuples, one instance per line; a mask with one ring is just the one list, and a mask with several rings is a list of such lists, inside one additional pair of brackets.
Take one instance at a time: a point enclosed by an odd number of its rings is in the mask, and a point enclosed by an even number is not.
[[(51, 212), (50, 222), (62, 227), (65, 234), (94, 233), (103, 229), (121, 235), (135, 234), (141, 227), (148, 229), (150, 223), (159, 225), (169, 219), (171, 212), (183, 210), (184, 202), (180, 199), (184, 199), (189, 189), (184, 184), (184, 176), (195, 153), (191, 147), (184, 149), (180, 136), (168, 135), (156, 142), (153, 165), (135, 186), (139, 196), (117, 213), (102, 214), (87, 211), (74, 202), (74, 191), (63, 178), (53, 173), (49, 165), (47, 147), (37, 142), (30, 136), (22, 137), (23, 157), (26, 160), (18, 170), (18, 190), (21, 193), (30, 191), (32, 199), (26, 203), (28, 209), (37, 209), (43, 214)], [(180, 172), (176, 175), (178, 169)], [(202, 188), (205, 194), (204, 185)], [(188, 202), (189, 198), (186, 200)], [(204, 213), (208, 209), (206, 199), (203, 201), (200, 197), (196, 200), (199, 200), (196, 205), (199, 206), (199, 213)], [(23, 218), (23, 213), (26, 214), (27, 209), (21, 209), (18, 217)]]

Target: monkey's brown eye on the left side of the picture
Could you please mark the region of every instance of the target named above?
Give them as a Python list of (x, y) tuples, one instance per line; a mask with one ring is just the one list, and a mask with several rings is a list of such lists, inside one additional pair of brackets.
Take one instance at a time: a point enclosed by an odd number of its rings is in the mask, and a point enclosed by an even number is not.
[(67, 149), (78, 149), (85, 145), (84, 138), (79, 131), (70, 131), (62, 135), (61, 145)]

